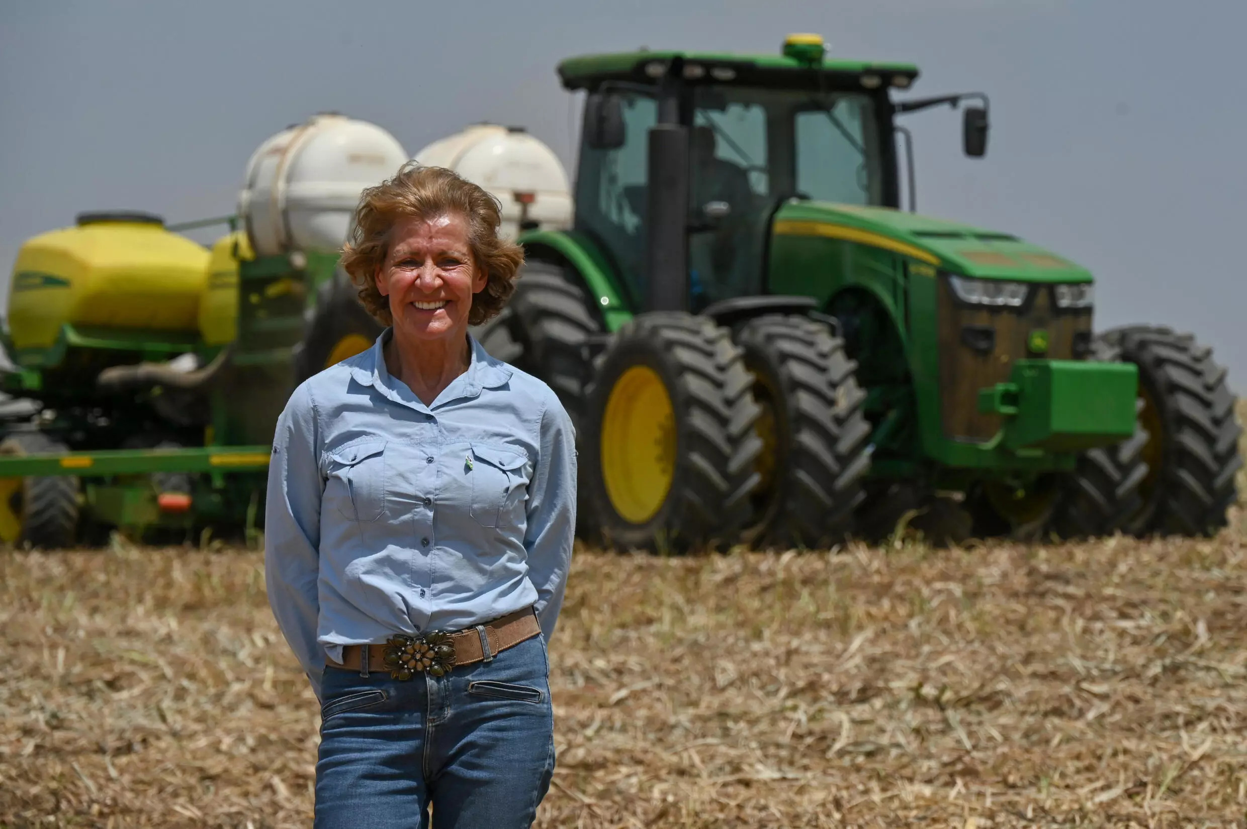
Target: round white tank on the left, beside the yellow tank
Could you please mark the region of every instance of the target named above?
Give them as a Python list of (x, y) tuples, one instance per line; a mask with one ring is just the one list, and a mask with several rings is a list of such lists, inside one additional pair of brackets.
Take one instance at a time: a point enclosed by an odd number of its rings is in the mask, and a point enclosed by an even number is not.
[(360, 191), (408, 158), (382, 127), (338, 113), (315, 115), (268, 138), (247, 162), (238, 194), (256, 256), (338, 249)]

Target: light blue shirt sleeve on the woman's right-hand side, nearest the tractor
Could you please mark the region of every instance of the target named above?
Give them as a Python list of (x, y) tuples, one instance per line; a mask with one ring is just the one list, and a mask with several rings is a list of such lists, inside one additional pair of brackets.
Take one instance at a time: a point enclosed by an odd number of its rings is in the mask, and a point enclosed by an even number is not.
[(541, 414), (540, 455), (529, 484), (529, 581), (537, 591), (534, 610), (546, 642), (562, 608), (576, 531), (576, 433), (567, 411), (550, 393)]

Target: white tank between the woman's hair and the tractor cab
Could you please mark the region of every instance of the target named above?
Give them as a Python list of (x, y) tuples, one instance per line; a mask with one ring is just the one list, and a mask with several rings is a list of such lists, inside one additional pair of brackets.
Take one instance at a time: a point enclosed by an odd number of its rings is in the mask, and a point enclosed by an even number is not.
[(521, 223), (542, 231), (572, 221), (567, 172), (545, 143), (519, 127), (475, 123), (415, 153), (429, 167), (446, 167), (503, 204), (499, 236), (515, 238)]

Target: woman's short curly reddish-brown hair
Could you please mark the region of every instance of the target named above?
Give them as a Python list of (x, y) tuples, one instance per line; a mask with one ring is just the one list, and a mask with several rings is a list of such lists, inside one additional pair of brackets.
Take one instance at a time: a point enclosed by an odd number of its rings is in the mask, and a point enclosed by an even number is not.
[(389, 234), (398, 219), (431, 219), (459, 213), (468, 221), (474, 264), (489, 276), (473, 295), (469, 325), (496, 317), (515, 290), (524, 248), (498, 237), (503, 206), (479, 186), (445, 167), (409, 161), (389, 181), (360, 193), (350, 238), (342, 247), (342, 267), (359, 289), (359, 300), (383, 325), (394, 324), (389, 300), (377, 289), (377, 271), (389, 253)]

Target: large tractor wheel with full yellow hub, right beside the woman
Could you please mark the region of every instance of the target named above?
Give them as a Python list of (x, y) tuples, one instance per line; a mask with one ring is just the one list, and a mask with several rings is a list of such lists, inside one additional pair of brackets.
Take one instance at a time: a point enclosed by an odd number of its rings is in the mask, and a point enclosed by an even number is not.
[(753, 378), (727, 329), (678, 312), (624, 325), (589, 391), (581, 455), (609, 545), (731, 544), (751, 515), (762, 440)]

